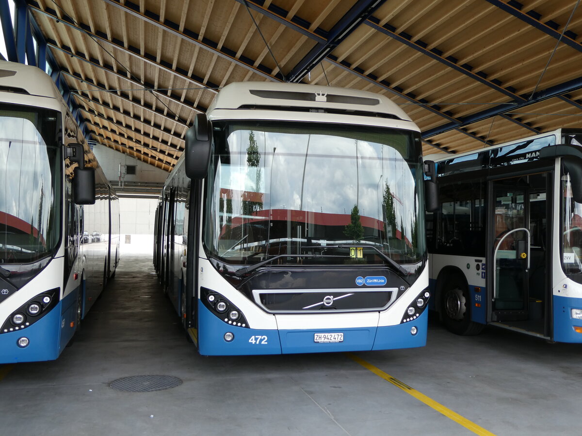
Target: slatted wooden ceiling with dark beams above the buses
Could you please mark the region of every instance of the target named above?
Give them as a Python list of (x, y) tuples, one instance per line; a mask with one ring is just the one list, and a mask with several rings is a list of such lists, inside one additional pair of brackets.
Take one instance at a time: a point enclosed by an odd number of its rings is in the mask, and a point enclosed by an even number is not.
[(218, 88), (282, 80), (279, 67), (387, 95), (430, 153), (582, 127), (577, 0), (381, 0), (349, 23), (363, 2), (27, 2), (93, 139), (165, 170)]

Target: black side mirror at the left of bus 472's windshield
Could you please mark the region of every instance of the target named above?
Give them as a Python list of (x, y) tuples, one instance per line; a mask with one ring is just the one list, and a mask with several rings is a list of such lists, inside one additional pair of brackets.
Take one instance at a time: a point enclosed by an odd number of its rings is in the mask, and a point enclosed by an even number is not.
[(211, 152), (212, 125), (204, 113), (198, 113), (194, 118), (194, 126), (186, 131), (186, 148), (184, 149), (186, 176), (192, 179), (206, 177)]

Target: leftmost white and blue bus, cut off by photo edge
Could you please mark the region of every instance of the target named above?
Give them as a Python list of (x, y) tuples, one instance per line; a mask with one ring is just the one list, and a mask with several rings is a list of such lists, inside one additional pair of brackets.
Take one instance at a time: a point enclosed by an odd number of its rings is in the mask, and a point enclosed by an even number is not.
[(0, 61), (0, 363), (58, 358), (119, 262), (119, 202), (51, 78)]

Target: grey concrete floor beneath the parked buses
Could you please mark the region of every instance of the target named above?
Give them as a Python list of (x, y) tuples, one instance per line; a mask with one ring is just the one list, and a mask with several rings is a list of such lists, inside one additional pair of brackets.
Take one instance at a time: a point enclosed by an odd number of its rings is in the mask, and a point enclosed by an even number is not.
[[(457, 337), (431, 323), (425, 348), (355, 353), (408, 392), (346, 353), (202, 357), (159, 290), (149, 252), (125, 253), (58, 360), (0, 365), (0, 434), (579, 435), (581, 352), (496, 328)], [(148, 374), (183, 383), (109, 387)]]

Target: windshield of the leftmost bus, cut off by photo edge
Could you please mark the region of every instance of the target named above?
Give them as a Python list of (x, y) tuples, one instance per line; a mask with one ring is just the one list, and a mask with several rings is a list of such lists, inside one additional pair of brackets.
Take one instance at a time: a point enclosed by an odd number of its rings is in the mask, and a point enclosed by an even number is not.
[(53, 110), (0, 105), (0, 263), (29, 263), (59, 242), (61, 149)]

